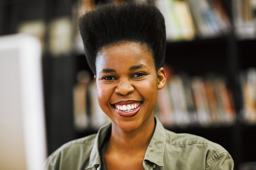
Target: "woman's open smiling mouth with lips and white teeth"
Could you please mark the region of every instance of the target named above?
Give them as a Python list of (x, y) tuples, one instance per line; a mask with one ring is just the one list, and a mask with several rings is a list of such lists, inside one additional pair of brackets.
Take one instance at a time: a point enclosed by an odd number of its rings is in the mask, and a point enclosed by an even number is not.
[(135, 116), (139, 112), (141, 104), (142, 102), (135, 102), (131, 104), (114, 104), (113, 107), (115, 107), (120, 116), (131, 117)]

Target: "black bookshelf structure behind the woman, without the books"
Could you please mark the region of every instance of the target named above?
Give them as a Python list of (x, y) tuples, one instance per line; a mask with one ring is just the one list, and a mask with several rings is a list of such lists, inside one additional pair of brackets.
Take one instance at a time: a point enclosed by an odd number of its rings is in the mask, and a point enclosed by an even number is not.
[[(103, 1), (105, 2), (105, 1)], [(154, 3), (154, 1), (150, 1)], [(235, 169), (244, 162), (256, 162), (256, 125), (247, 124), (241, 118), (243, 109), (243, 92), (239, 73), (256, 67), (256, 38), (253, 36), (239, 37), (236, 31), (233, 7), (235, 0), (222, 1), (231, 24), (230, 32), (202, 37), (195, 35), (192, 40), (168, 40), (166, 45), (166, 64), (174, 73), (186, 73), (189, 76), (205, 77), (208, 73), (225, 76), (226, 86), (232, 91), (236, 112), (236, 121), (226, 125), (199, 124), (182, 126), (166, 126), (177, 133), (192, 133), (203, 136), (224, 146), (235, 161)], [(81, 51), (77, 47), (69, 52), (52, 54), (48, 43), (51, 40), (49, 25), (53, 20), (66, 18), (72, 20), (77, 0), (1, 0), (0, 1), (0, 35), (16, 33), (21, 23), (42, 21), (45, 30), (43, 54), (44, 98), (47, 122), (48, 154), (63, 143), (96, 133), (97, 129), (90, 126), (77, 130), (73, 124), (73, 88), (77, 84), (77, 73), (89, 71), (89, 67)], [(97, 4), (98, 1), (95, 1)], [(234, 14), (235, 13), (235, 14)], [(2, 25), (4, 25), (2, 27)], [(40, 33), (39, 33), (40, 34)], [(251, 34), (252, 35), (252, 34)], [(75, 35), (71, 33), (71, 37)], [(72, 44), (70, 42), (70, 44)], [(69, 44), (69, 45), (70, 45)], [(89, 71), (89, 75), (92, 74)], [(90, 105), (90, 103), (88, 104)], [(90, 112), (90, 108), (88, 108)]]

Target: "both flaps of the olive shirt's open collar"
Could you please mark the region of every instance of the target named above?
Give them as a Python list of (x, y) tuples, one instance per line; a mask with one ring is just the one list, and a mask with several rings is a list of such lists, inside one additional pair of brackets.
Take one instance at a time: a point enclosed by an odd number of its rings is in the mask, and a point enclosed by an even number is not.
[[(144, 160), (148, 160), (158, 166), (163, 166), (166, 133), (160, 120), (158, 120), (158, 118), (156, 117), (155, 117), (155, 120), (156, 120), (156, 127), (154, 130), (152, 139), (146, 150)], [(95, 165), (100, 165), (99, 147), (102, 145), (104, 139), (106, 138), (106, 135), (108, 134), (108, 131), (110, 130), (111, 130), (111, 123), (108, 123), (99, 129), (95, 138), (94, 145), (92, 147), (91, 154), (90, 154), (90, 163), (86, 169), (93, 168), (95, 167)]]

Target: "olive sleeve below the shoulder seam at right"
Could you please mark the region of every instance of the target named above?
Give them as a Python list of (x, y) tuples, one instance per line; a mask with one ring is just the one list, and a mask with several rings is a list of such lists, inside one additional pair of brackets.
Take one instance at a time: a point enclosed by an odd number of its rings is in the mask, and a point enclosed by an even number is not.
[(233, 170), (234, 161), (228, 152), (216, 154), (207, 164), (206, 170)]

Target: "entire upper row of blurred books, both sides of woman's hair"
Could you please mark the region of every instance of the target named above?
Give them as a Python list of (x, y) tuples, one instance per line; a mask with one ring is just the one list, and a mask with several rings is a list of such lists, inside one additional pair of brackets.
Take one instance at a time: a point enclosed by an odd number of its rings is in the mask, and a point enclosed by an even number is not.
[[(223, 0), (148, 0), (165, 17), (167, 41), (190, 41), (217, 37), (233, 29)], [(121, 0), (114, 0), (119, 3)], [(42, 50), (53, 56), (75, 51), (83, 53), (83, 43), (77, 27), (79, 16), (94, 8), (94, 0), (74, 3), (72, 16), (52, 19), (49, 23), (38, 18), (21, 22), (17, 32), (32, 34), (42, 42)], [(234, 32), (238, 38), (256, 38), (256, 0), (233, 0)], [(47, 37), (47, 38), (46, 38)]]

